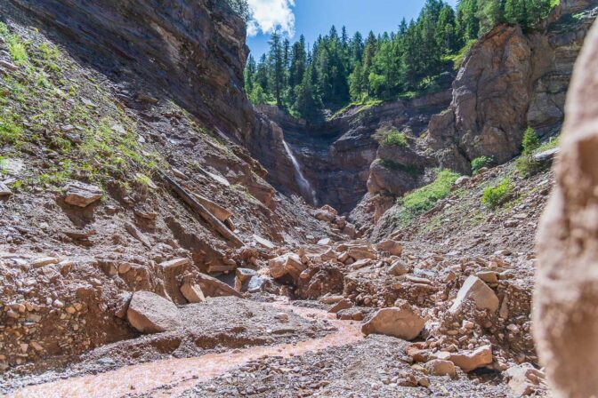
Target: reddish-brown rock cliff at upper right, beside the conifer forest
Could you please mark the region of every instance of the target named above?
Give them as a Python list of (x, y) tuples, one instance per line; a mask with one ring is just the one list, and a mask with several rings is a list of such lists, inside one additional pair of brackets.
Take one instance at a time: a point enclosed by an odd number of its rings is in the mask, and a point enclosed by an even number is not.
[(545, 33), (499, 26), (473, 45), (448, 111), (430, 122), (428, 145), (441, 167), (468, 173), (479, 156), (505, 163), (519, 154), (527, 126), (545, 134), (560, 129), (573, 64), (595, 18), (564, 12), (585, 6), (566, 4)]

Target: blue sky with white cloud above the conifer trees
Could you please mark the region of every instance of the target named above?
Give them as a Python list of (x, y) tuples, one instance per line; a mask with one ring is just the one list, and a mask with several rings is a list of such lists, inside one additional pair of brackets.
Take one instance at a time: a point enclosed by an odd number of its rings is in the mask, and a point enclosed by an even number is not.
[[(290, 36), (291, 42), (304, 35), (313, 44), (320, 35), (327, 34), (332, 25), (349, 35), (360, 31), (364, 36), (397, 30), (400, 20), (416, 18), (424, 0), (248, 0), (255, 20), (250, 23), (247, 45), (256, 59), (268, 50), (273, 28), (279, 27)], [(457, 0), (448, 0), (455, 6)]]

